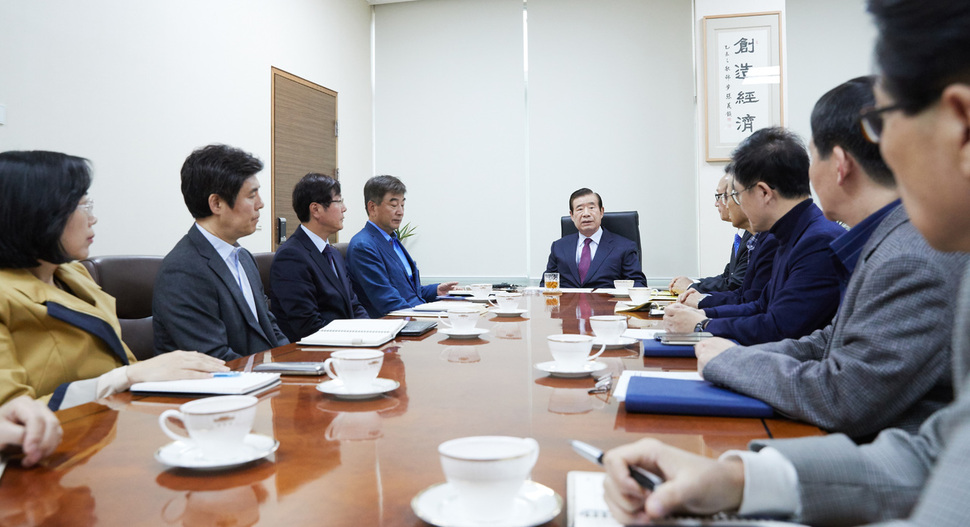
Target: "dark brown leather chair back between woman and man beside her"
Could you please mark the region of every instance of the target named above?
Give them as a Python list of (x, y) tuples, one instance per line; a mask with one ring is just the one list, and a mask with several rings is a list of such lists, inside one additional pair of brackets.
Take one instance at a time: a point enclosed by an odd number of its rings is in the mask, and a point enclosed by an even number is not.
[(161, 256), (98, 256), (81, 263), (106, 293), (115, 297), (121, 339), (138, 360), (155, 356), (152, 291)]

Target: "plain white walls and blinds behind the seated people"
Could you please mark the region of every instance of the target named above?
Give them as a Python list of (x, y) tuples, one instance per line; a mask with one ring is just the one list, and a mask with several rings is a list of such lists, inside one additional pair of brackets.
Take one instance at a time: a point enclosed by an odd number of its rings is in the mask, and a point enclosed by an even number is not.
[[(785, 116), (802, 135), (819, 95), (870, 71), (863, 0), (695, 1), (695, 60), (703, 16), (783, 11)], [(647, 249), (648, 276), (719, 272), (732, 229), (710, 203), (722, 166), (701, 155), (702, 76), (684, 86), (690, 2), (528, 6), (528, 86), (521, 0), (376, 7), (372, 99), (364, 0), (0, 0), (0, 150), (92, 159), (92, 253), (164, 254), (191, 222), (178, 170), (193, 148), (233, 144), (269, 166), (276, 66), (339, 92), (344, 240), (366, 217), (363, 182), (395, 173), (426, 277), (537, 277), (566, 197), (589, 185), (608, 210), (640, 210), (668, 248)], [(657, 100), (661, 86), (677, 87), (672, 99)], [(242, 240), (256, 251), (270, 246), (263, 212)]]

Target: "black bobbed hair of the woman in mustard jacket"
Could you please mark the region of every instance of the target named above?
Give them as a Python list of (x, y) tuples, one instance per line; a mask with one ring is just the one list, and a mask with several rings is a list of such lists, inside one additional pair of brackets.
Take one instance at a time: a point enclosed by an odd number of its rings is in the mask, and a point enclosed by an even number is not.
[(90, 186), (87, 159), (60, 152), (0, 153), (0, 268), (71, 261), (61, 235)]

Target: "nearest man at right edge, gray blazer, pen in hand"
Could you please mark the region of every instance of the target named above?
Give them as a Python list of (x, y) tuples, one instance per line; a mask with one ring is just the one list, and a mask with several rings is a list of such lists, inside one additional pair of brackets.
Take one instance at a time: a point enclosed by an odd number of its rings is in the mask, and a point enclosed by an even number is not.
[[(893, 169), (913, 224), (941, 251), (970, 252), (970, 4), (869, 0), (882, 79), (863, 126)], [(932, 32), (926, 28), (932, 27)], [(811, 525), (964, 527), (970, 518), (970, 267), (953, 332), (956, 400), (916, 434), (858, 446), (837, 434), (757, 442), (718, 461), (656, 440), (606, 454), (605, 497), (621, 522), (679, 511), (769, 513)], [(865, 389), (860, 386), (860, 390)], [(628, 463), (664, 477), (648, 493)]]

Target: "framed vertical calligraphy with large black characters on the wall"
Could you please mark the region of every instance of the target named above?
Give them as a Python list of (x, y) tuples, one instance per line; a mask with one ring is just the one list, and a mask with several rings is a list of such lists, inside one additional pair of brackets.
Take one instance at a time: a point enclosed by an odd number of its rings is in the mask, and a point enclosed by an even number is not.
[(781, 13), (704, 17), (707, 161), (761, 128), (783, 126)]

